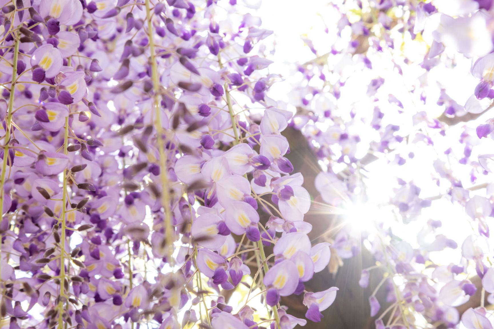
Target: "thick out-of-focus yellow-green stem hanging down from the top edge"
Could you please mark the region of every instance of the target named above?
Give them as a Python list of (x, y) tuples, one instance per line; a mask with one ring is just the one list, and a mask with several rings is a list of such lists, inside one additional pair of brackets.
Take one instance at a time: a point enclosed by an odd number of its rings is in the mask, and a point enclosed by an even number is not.
[(153, 79), (153, 107), (155, 109), (154, 125), (156, 129), (156, 137), (158, 141), (158, 149), (160, 152), (160, 177), (162, 184), (162, 205), (165, 208), (165, 239), (166, 239), (166, 259), (171, 264), (172, 262), (172, 250), (173, 250), (173, 226), (171, 224), (171, 210), (170, 210), (170, 192), (168, 189), (168, 171), (166, 169), (165, 142), (163, 141), (163, 125), (161, 121), (161, 110), (159, 104), (160, 94), (160, 81), (158, 78), (158, 68), (156, 65), (156, 53), (153, 36), (153, 24), (151, 23), (151, 9), (149, 6), (149, 0), (146, 0), (146, 20), (148, 21), (148, 34), (149, 34), (149, 51), (151, 52), (151, 71)]

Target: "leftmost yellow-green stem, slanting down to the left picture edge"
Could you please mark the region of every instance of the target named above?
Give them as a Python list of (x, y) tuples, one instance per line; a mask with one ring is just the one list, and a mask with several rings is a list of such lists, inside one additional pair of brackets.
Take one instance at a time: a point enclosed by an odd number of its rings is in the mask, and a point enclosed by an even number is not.
[[(15, 94), (15, 79), (17, 77), (17, 58), (19, 57), (19, 39), (14, 35), (14, 59), (12, 66), (12, 86), (10, 87), (10, 96), (8, 98), (8, 112), (7, 121), (5, 123), (5, 138), (3, 139), (3, 162), (1, 166), (1, 178), (0, 178), (0, 222), (3, 219), (3, 198), (5, 192), (3, 187), (5, 185), (5, 172), (7, 171), (7, 159), (8, 159), (8, 146), (10, 142), (10, 123), (12, 122), (12, 110), (14, 107), (14, 94)], [(11, 165), (11, 164), (10, 164)], [(1, 234), (0, 234), (0, 257), (1, 257)], [(0, 273), (1, 273), (1, 261), (0, 261)]]

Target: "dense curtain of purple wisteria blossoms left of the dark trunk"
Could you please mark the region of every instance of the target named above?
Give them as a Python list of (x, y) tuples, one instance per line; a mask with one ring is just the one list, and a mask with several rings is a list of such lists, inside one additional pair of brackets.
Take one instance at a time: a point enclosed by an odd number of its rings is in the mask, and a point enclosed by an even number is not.
[(2, 328), (286, 329), (307, 322), (280, 304), (293, 294), (321, 320), (338, 289), (304, 283), (329, 243), (307, 236), (292, 113), (267, 96), (271, 32), (248, 8), (1, 8)]

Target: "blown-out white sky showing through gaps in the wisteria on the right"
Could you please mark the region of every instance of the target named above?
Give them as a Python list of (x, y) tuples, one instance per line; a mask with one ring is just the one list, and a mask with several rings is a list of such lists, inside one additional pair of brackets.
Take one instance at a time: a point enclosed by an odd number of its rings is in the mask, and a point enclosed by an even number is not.
[[(262, 27), (273, 30), (276, 38), (276, 53), (271, 58), (275, 63), (270, 66), (270, 72), (280, 73), (286, 79), (286, 81), (276, 83), (271, 87), (270, 97), (273, 99), (288, 102), (289, 97), (293, 97), (290, 95), (292, 86), (296, 81), (301, 79), (301, 74), (295, 71), (295, 66), (291, 63), (304, 63), (316, 57), (307, 46), (304, 46), (302, 37), (310, 35), (318, 50), (318, 55), (330, 51), (330, 47), (336, 39), (335, 24), (339, 19), (339, 16), (335, 15), (330, 2), (324, 0), (305, 0), (302, 2), (299, 0), (286, 0), (283, 2), (275, 0), (263, 1), (257, 14), (262, 19)], [(324, 32), (326, 27), (329, 29), (328, 34)], [(431, 43), (431, 38), (427, 35), (424, 35), (424, 40), (428, 44)], [(405, 53), (409, 58), (416, 60), (415, 64), (418, 65), (423, 59), (423, 55), (421, 54), (424, 51), (424, 47), (425, 44), (410, 41), (407, 42)], [(404, 104), (405, 111), (413, 111), (414, 113), (415, 111), (425, 110), (428, 113), (434, 113), (433, 115), (439, 115), (444, 110), (444, 108), (435, 106), (435, 100), (439, 96), (438, 85), (446, 87), (449, 95), (460, 105), (463, 105), (473, 93), (474, 87), (478, 82), (470, 74), (471, 59), (463, 58), (458, 60), (454, 70), (434, 69), (429, 74), (429, 80), (427, 82), (431, 87), (428, 90), (428, 107), (425, 108), (421, 103), (415, 102), (408, 93), (411, 86), (416, 83), (419, 74), (422, 74), (421, 70), (416, 70), (416, 67), (412, 67), (410, 70), (405, 69), (402, 77), (396, 71), (393, 72), (392, 68), (390, 69), (390, 59), (382, 56), (382, 61), (372, 63), (373, 71), (360, 70), (352, 73), (345, 87), (341, 89), (342, 96), (338, 102), (338, 107), (340, 109), (344, 107), (350, 108), (359, 98), (365, 98), (367, 100), (367, 97), (361, 97), (361, 95), (365, 96), (367, 82), (371, 78), (376, 77), (372, 75), (376, 74), (376, 72), (379, 72), (388, 81), (385, 94), (392, 93), (397, 96)], [(359, 106), (366, 107), (365, 104), (357, 103), (357, 105), (354, 105), (357, 110)], [(404, 129), (411, 128), (411, 122), (404, 122), (403, 116), (399, 117), (398, 115), (393, 116), (392, 114), (387, 114), (386, 119), (388, 120), (387, 122), (385, 120), (386, 123), (398, 124), (405, 127)], [(479, 123), (483, 123), (486, 119), (485, 116), (482, 116), (475, 122), (468, 123), (468, 126), (475, 129)], [(442, 154), (450, 146), (453, 146), (453, 152), (460, 157), (464, 147), (458, 143), (458, 137), (462, 131), (462, 127), (463, 125), (459, 124), (450, 130), (446, 138), (437, 139), (434, 149), (417, 146), (414, 150), (415, 158), (405, 166), (387, 165), (386, 159), (376, 161), (368, 166), (369, 180), (367, 183), (370, 203), (376, 208), (377, 205), (387, 203), (390, 195), (393, 194), (393, 187), (397, 187), (396, 177), (401, 177), (406, 181), (413, 180), (416, 185), (423, 187), (421, 197), (430, 197), (444, 193), (445, 188), (449, 185), (446, 183), (444, 187), (438, 188), (435, 182), (431, 180), (431, 158), (436, 156), (436, 152)], [(401, 135), (405, 134), (401, 133)], [(365, 133), (361, 135), (361, 138), (362, 140), (366, 139)], [(371, 138), (371, 135), (368, 135), (367, 138)], [(490, 151), (493, 147), (494, 142), (491, 139), (484, 139), (481, 146), (474, 147), (472, 159), (476, 159), (479, 154), (493, 153)], [(363, 156), (362, 152), (365, 154), (366, 151), (366, 148), (360, 150), (360, 156)], [(457, 173), (457, 176), (462, 179), (469, 177), (469, 171), (469, 166), (453, 168), (453, 172)], [(491, 176), (492, 174), (488, 177), (479, 177), (475, 184), (492, 181)], [(464, 187), (470, 187), (473, 184), (465, 180), (463, 181), (463, 185)], [(486, 195), (485, 189), (472, 192), (471, 195), (474, 193)], [(376, 214), (379, 214), (379, 217), (381, 213), (382, 211), (376, 209)], [(414, 245), (416, 243), (416, 233), (423, 227), (427, 219), (442, 220), (443, 228), (440, 233), (444, 233), (449, 238), (456, 240), (459, 247), (461, 247), (464, 238), (473, 233), (463, 209), (459, 206), (453, 206), (447, 199), (434, 201), (432, 207), (423, 211), (421, 219), (412, 224), (393, 225), (396, 226), (394, 227), (395, 233)], [(356, 220), (361, 223), (362, 221), (369, 220), (369, 217)], [(394, 219), (390, 218), (390, 220)], [(441, 255), (431, 256), (433, 259), (437, 258), (435, 260), (438, 263), (445, 265), (450, 262), (456, 263), (460, 258), (460, 248), (455, 251), (447, 250), (446, 252), (441, 252)]]

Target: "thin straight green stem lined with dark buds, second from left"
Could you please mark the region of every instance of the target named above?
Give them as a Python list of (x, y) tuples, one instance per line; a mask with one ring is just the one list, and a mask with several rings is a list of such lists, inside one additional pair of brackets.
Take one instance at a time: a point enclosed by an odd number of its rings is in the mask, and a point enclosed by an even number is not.
[[(65, 130), (64, 130), (64, 145), (63, 152), (67, 155), (67, 146), (69, 144), (69, 116), (65, 117)], [(60, 234), (60, 295), (58, 301), (58, 329), (62, 329), (63, 326), (63, 299), (65, 297), (65, 213), (67, 211), (67, 169), (63, 171), (63, 191), (62, 191), (62, 215), (60, 216), (60, 222), (62, 224), (62, 233)]]

